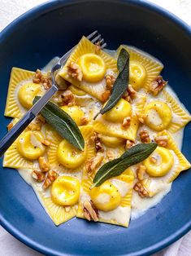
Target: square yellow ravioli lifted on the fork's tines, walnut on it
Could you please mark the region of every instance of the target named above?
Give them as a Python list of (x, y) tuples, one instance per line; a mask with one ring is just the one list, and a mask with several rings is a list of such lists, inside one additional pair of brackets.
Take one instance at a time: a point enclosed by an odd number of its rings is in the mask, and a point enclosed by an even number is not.
[[(89, 95), (102, 100), (102, 94), (106, 91), (105, 75), (107, 73), (116, 75), (118, 70), (116, 60), (111, 55), (102, 50), (97, 51), (97, 49), (97, 46), (83, 37), (75, 50), (72, 51), (65, 66), (59, 71), (59, 76), (57, 77), (62, 77), (67, 82), (71, 82), (72, 85), (89, 93)], [(71, 63), (78, 64), (80, 70), (82, 70), (83, 77), (81, 81), (68, 74), (68, 66)], [(92, 76), (95, 69), (95, 75)]]

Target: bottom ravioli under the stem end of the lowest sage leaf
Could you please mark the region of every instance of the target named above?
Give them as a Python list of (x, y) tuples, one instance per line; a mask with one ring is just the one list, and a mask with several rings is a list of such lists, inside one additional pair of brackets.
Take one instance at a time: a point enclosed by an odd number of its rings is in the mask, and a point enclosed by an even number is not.
[(128, 227), (134, 179), (132, 171), (126, 170), (124, 174), (107, 180), (100, 187), (90, 189), (93, 176), (84, 170), (77, 217), (85, 218), (85, 205), (88, 201), (97, 205), (97, 221)]

